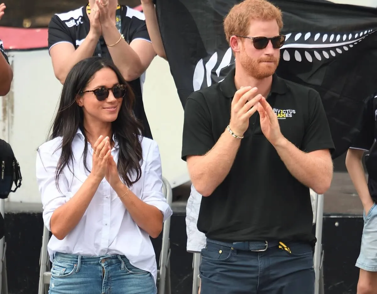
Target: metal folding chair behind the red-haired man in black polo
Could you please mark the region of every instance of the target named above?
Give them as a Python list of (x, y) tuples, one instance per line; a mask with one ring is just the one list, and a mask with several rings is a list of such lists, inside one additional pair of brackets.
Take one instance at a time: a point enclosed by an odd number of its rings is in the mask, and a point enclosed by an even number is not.
[[(323, 283), (323, 250), (322, 250), (322, 224), (323, 224), (323, 194), (314, 193), (314, 201), (312, 201), (313, 207), (313, 225), (316, 225), (316, 238), (317, 243), (314, 248), (313, 266), (316, 275), (314, 284), (314, 294), (324, 294)], [(201, 262), (200, 253), (193, 254), (193, 283), (192, 294), (198, 294), (200, 277), (199, 266)]]

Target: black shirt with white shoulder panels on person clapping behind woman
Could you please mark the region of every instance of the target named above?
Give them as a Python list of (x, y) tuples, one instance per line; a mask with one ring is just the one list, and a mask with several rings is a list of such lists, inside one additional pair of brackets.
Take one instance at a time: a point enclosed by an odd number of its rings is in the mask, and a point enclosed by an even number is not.
[[(136, 39), (143, 39), (150, 42), (147, 26), (145, 23), (144, 14), (129, 8), (128, 6), (121, 6), (121, 27), (124, 40), (128, 44)], [(86, 6), (82, 6), (78, 9), (55, 14), (48, 26), (48, 49), (59, 43), (70, 43), (75, 49), (80, 46), (89, 33), (90, 22), (86, 14)], [(101, 56), (112, 59), (107, 49), (106, 43), (103, 37), (100, 38), (101, 44)], [(97, 56), (97, 49), (93, 53), (93, 56)], [(135, 108), (134, 113), (136, 118), (141, 120), (144, 127), (143, 135), (152, 139), (152, 132), (150, 131), (147, 116), (144, 111), (142, 89), (145, 80), (145, 73), (133, 81), (129, 81), (134, 93), (135, 93)]]

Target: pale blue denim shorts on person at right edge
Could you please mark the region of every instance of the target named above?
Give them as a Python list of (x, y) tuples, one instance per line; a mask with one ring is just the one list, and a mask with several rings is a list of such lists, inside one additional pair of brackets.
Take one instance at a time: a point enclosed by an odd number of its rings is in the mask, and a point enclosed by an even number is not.
[(366, 271), (377, 271), (377, 207), (373, 204), (368, 214), (363, 215), (364, 228), (360, 255), (356, 267)]

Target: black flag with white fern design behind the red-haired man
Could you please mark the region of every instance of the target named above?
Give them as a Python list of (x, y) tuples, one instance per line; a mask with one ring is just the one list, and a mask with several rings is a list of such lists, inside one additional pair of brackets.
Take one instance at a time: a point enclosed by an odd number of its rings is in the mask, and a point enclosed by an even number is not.
[[(179, 99), (221, 81), (234, 66), (223, 20), (240, 0), (157, 0), (162, 41)], [(277, 74), (316, 89), (336, 152), (360, 129), (365, 99), (377, 90), (377, 9), (324, 0), (271, 0), (283, 12)]]

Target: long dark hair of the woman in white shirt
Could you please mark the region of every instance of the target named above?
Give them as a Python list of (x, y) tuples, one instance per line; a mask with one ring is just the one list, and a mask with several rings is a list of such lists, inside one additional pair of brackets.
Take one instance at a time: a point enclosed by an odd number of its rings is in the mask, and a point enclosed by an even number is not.
[[(111, 60), (95, 56), (78, 62), (68, 73), (63, 85), (59, 108), (48, 139), (63, 137), (59, 147), (61, 148), (61, 155), (55, 174), (57, 185), (64, 167), (68, 165), (70, 169), (69, 163), (72, 163), (73, 168), (72, 141), (78, 128), (81, 129), (85, 141), (83, 151), (84, 167), (90, 172), (86, 160), (88, 148), (86, 131), (83, 125), (84, 113), (82, 108), (78, 106), (76, 99), (82, 95), (80, 92), (84, 90), (94, 74), (103, 68), (113, 70), (118, 77), (119, 83), (127, 86), (126, 96), (123, 97), (118, 117), (112, 122), (112, 132), (119, 147), (118, 172), (127, 186), (132, 186), (141, 177), (142, 150), (141, 137), (139, 135), (143, 125), (133, 114), (135, 94)], [(73, 173), (73, 170), (70, 169), (70, 171)], [(136, 178), (132, 180), (129, 174), (136, 175)]]

